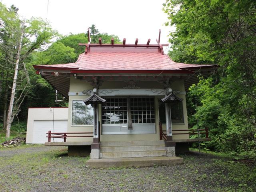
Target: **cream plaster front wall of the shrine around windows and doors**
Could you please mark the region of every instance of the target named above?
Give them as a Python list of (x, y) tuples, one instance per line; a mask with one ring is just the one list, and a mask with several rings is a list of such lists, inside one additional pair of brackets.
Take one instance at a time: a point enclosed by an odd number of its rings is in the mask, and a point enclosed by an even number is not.
[[(126, 82), (103, 82), (100, 89), (104, 88), (123, 88), (127, 86)], [(163, 85), (159, 82), (145, 82), (138, 81), (137, 86), (140, 88), (163, 88)], [(173, 82), (171, 85), (173, 90), (185, 91), (183, 80)], [(83, 80), (76, 80), (74, 77), (70, 78), (70, 92), (82, 92), (83, 90), (90, 89), (93, 87)], [(174, 130), (188, 129), (188, 118), (186, 109), (186, 96), (178, 95), (183, 98), (183, 113), (184, 113), (184, 124), (173, 124)], [(72, 118), (72, 100), (84, 100), (88, 96), (69, 96), (69, 108), (68, 108), (68, 132), (93, 132), (93, 126), (71, 126)], [(156, 122), (156, 134), (127, 134), (127, 135), (100, 135), (101, 141), (129, 141), (129, 140), (159, 140), (159, 118), (158, 118), (158, 99), (162, 97), (155, 97), (155, 122)], [(101, 106), (99, 106), (101, 109)], [(101, 122), (101, 110), (100, 110), (100, 122)], [(162, 126), (163, 130), (165, 125)], [(188, 135), (174, 135), (174, 139), (188, 139)], [(68, 138), (67, 141), (92, 141), (92, 137), (81, 137), (81, 138)]]

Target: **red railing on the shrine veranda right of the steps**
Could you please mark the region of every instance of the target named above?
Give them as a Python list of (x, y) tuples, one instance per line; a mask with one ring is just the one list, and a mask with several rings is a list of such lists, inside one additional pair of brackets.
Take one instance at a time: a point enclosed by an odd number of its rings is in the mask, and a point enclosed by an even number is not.
[[(159, 128), (160, 128), (160, 140), (164, 138), (166, 140), (166, 130), (162, 130), (162, 123), (159, 122)], [(180, 130), (172, 130), (174, 131), (188, 131), (188, 133), (173, 133), (173, 135), (183, 135), (183, 134), (188, 134), (188, 135), (197, 135), (197, 134), (206, 134), (206, 138), (209, 138), (208, 135), (208, 128), (206, 127), (205, 129), (180, 129)], [(200, 131), (205, 131), (205, 132), (200, 132)], [(197, 133), (195, 133), (197, 132)]]

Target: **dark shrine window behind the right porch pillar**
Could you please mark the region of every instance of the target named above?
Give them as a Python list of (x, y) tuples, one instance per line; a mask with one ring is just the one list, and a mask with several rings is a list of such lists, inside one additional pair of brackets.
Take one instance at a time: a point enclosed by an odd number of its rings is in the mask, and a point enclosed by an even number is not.
[[(161, 101), (159, 101), (158, 103), (159, 103), (159, 121), (165, 124), (166, 123), (165, 104)], [(172, 124), (184, 123), (182, 101), (174, 101), (174, 102), (171, 102), (170, 104), (171, 104)]]

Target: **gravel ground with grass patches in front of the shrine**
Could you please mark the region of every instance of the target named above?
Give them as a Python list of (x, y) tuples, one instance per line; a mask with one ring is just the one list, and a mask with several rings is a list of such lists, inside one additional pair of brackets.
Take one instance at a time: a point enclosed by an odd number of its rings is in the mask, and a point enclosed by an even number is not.
[(184, 164), (145, 168), (86, 168), (88, 158), (66, 147), (0, 150), (0, 191), (215, 192), (255, 191), (256, 166), (220, 156), (182, 155)]

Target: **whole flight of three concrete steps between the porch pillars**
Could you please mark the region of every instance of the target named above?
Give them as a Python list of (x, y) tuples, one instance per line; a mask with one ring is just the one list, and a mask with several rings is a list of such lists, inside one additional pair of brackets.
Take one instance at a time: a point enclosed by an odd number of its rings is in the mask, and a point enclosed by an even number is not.
[(163, 140), (100, 142), (100, 158), (135, 158), (166, 156)]

